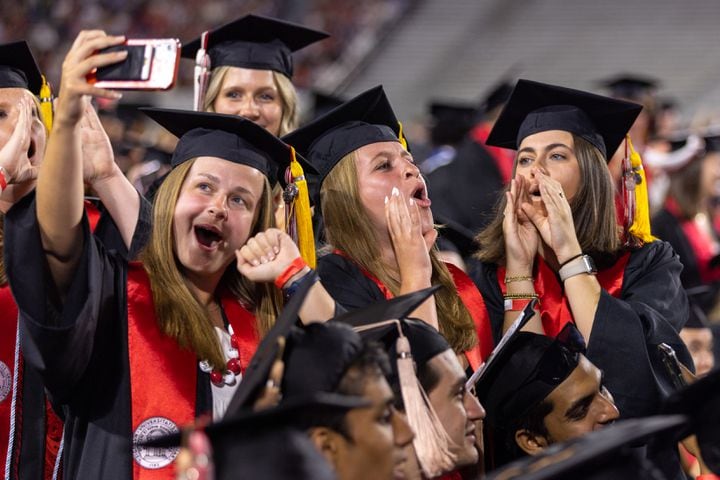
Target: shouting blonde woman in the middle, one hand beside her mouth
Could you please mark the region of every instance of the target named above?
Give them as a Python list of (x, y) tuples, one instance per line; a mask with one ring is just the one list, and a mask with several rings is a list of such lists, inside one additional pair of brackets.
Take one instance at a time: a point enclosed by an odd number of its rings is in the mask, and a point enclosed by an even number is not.
[(284, 139), (320, 172), (314, 200), (332, 252), (318, 260), (318, 272), (330, 295), (356, 309), (441, 284), (414, 316), (477, 368), (489, 353), (478, 344), (487, 326), (472, 315), (482, 300), (467, 276), (437, 258), (427, 187), (382, 87)]

